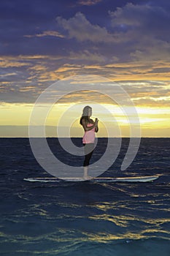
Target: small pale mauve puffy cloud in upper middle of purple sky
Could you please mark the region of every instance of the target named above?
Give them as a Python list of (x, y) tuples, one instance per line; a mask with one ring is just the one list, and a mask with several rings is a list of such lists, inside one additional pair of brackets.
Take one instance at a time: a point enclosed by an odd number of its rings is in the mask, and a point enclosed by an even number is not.
[(56, 21), (63, 29), (68, 31), (69, 38), (75, 38), (80, 42), (112, 42), (113, 37), (107, 29), (93, 25), (81, 12), (77, 12), (73, 18), (68, 20), (57, 17)]

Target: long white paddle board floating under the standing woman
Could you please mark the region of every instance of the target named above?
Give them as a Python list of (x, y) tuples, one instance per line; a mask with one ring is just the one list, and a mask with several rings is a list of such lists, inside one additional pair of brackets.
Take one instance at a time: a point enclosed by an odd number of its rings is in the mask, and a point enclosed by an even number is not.
[(148, 182), (154, 181), (159, 176), (139, 176), (139, 177), (96, 177), (86, 180), (84, 178), (24, 178), (24, 181), (31, 182), (75, 182), (75, 181), (90, 181), (90, 182)]

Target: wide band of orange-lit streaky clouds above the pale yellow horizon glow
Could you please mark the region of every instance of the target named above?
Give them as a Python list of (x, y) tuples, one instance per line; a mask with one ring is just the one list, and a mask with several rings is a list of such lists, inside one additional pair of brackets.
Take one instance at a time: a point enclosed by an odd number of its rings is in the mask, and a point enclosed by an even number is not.
[(6, 102), (34, 102), (56, 80), (72, 75), (99, 75), (122, 84), (136, 105), (169, 105), (168, 61), (107, 64), (106, 56), (90, 50), (71, 51), (64, 59), (33, 55), (3, 56), (1, 61), (7, 61), (7, 67), (0, 72), (1, 100)]

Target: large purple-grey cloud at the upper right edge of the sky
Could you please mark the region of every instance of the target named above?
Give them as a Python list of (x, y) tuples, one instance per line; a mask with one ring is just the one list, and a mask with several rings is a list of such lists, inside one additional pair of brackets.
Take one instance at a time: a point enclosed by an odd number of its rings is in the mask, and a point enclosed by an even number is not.
[[(170, 59), (169, 11), (160, 6), (131, 4), (109, 12), (117, 41), (131, 43), (131, 57)], [(133, 49), (134, 48), (134, 49)], [(130, 49), (130, 48), (129, 48)]]

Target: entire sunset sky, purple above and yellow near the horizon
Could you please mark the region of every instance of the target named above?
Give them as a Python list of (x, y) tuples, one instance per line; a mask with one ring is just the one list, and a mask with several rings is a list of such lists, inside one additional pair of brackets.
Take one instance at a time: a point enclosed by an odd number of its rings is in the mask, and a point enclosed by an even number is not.
[[(167, 0), (2, 0), (0, 136), (28, 137), (39, 95), (56, 81), (86, 75), (93, 77), (88, 82), (92, 87), (98, 77), (122, 86), (139, 115), (142, 137), (170, 137), (169, 24)], [(115, 123), (120, 135), (129, 137), (129, 122), (120, 106), (87, 91), (86, 83), (81, 86), (79, 93), (53, 106), (46, 120), (47, 136), (55, 136), (60, 125), (69, 126), (72, 137), (81, 137), (79, 119), (89, 103), (92, 117), (99, 119), (98, 137), (107, 136), (107, 127), (114, 129)], [(73, 105), (79, 108), (69, 111)], [(67, 121), (59, 124), (65, 113)]]

